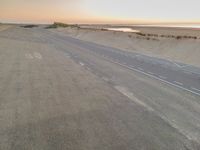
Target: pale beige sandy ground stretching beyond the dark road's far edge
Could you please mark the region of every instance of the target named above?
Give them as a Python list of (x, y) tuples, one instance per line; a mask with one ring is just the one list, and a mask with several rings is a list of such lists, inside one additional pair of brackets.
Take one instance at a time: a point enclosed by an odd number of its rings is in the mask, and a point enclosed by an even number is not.
[(161, 37), (173, 35), (199, 38), (199, 30), (152, 27), (134, 29), (144, 34), (157, 34), (159, 37), (98, 29), (59, 28), (56, 30), (78, 39), (200, 67), (200, 39)]

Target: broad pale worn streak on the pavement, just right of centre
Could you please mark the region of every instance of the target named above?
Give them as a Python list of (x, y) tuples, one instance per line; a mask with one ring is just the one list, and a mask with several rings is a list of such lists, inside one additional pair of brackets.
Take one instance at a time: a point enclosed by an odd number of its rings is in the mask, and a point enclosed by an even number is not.
[(134, 101), (135, 103), (145, 107), (147, 110), (149, 111), (154, 111), (153, 108), (151, 108), (150, 106), (148, 106), (147, 104), (145, 104), (144, 102), (140, 101), (139, 99), (137, 99), (133, 93), (131, 93), (128, 89), (121, 87), (121, 86), (115, 86), (115, 89), (117, 91), (119, 91), (120, 93), (122, 93), (123, 95), (125, 95), (126, 97), (128, 97), (130, 100)]

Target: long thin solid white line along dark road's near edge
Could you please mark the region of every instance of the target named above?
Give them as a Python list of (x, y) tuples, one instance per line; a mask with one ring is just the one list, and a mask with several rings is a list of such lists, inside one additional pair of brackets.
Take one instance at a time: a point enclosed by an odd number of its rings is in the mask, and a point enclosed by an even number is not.
[(169, 81), (160, 79), (160, 78), (158, 78), (158, 77), (156, 77), (156, 76), (147, 74), (147, 73), (145, 73), (145, 72), (143, 72), (143, 71), (140, 71), (140, 70), (138, 70), (138, 69), (125, 66), (125, 65), (123, 65), (123, 64), (120, 64), (120, 63), (115, 62), (115, 61), (112, 61), (112, 60), (108, 60), (108, 61), (110, 61), (110, 62), (112, 62), (112, 63), (115, 63), (115, 64), (118, 64), (118, 65), (120, 65), (120, 66), (126, 67), (126, 68), (128, 68), (128, 69), (130, 69), (130, 70), (139, 72), (139, 73), (144, 74), (144, 75), (146, 75), (146, 76), (149, 76), (149, 77), (151, 77), (151, 78), (157, 79), (157, 80), (162, 81), (162, 82), (164, 82), (164, 83), (167, 83), (167, 84), (169, 84), (169, 85), (175, 86), (175, 87), (180, 88), (180, 89), (182, 89), (182, 90), (188, 91), (188, 92), (193, 93), (193, 94), (195, 94), (195, 95), (200, 96), (200, 93), (194, 92), (194, 91), (192, 91), (192, 90), (190, 90), (190, 89), (184, 88), (184, 87), (182, 87), (182, 86), (179, 86), (179, 85), (177, 85), (177, 84), (171, 83), (171, 82), (169, 82)]

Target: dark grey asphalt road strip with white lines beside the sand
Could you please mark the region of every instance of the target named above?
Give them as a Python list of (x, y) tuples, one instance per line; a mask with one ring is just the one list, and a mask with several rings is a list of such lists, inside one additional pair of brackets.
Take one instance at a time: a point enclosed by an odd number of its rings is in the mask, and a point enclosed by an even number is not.
[[(194, 67), (186, 64), (125, 52), (70, 37), (59, 38), (80, 45), (109, 61), (200, 96), (200, 68), (198, 72), (193, 72), (192, 68)], [(185, 69), (186, 67), (187, 69)]]

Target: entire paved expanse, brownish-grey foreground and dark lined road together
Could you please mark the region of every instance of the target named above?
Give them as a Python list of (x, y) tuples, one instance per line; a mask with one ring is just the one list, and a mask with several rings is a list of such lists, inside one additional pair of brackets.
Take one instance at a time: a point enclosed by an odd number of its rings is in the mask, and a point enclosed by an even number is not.
[(0, 149), (200, 149), (193, 68), (17, 26), (0, 68)]

